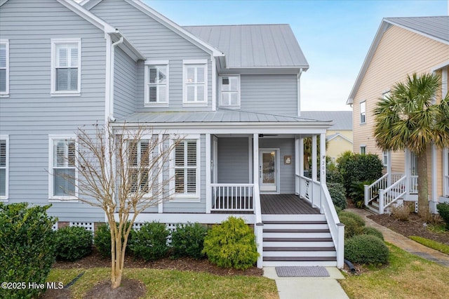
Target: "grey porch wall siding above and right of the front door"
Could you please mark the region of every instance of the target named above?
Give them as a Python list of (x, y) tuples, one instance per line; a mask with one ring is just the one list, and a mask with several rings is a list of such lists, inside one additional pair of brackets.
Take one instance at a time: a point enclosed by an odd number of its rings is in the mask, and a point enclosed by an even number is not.
[[(283, 194), (295, 193), (295, 140), (288, 138), (260, 138), (259, 148), (279, 149), (280, 192)], [(283, 164), (283, 157), (291, 156), (291, 164)]]

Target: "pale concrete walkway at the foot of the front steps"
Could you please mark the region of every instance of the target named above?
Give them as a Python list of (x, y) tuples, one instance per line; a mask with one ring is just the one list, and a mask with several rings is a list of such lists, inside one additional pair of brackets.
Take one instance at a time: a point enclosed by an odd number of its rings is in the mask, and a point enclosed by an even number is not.
[(275, 267), (264, 267), (264, 277), (274, 279), (280, 299), (347, 299), (337, 279), (344, 279), (336, 267), (326, 267), (330, 277), (278, 277)]

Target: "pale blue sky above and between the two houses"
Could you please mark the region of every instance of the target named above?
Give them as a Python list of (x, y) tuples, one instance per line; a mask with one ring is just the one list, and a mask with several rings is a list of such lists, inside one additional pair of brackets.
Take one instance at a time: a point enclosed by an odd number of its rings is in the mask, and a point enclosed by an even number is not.
[(144, 0), (178, 25), (289, 24), (310, 69), (302, 110), (350, 110), (345, 102), (382, 18), (448, 15), (449, 0)]

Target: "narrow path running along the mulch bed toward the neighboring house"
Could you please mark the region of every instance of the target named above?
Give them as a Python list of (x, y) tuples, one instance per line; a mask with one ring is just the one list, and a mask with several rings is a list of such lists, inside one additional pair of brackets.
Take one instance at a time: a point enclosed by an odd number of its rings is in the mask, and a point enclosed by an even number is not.
[(412, 239), (408, 239), (408, 237), (404, 237), (402, 234), (393, 232), (387, 227), (383, 227), (382, 225), (379, 225), (370, 218), (366, 217), (368, 215), (374, 215), (373, 213), (361, 208), (347, 208), (345, 211), (350, 211), (361, 215), (367, 226), (375, 227), (377, 230), (380, 230), (380, 232), (384, 235), (385, 241), (393, 244), (394, 246), (397, 246), (409, 253), (418, 255), (421, 258), (425, 258), (426, 260), (431, 260), (432, 262), (449, 267), (449, 255), (421, 245)]

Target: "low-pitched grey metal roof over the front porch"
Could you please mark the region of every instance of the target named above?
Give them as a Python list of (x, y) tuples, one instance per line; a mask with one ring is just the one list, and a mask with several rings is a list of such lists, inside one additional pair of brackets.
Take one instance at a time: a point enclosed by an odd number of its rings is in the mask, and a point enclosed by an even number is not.
[(288, 117), (276, 114), (245, 112), (233, 109), (196, 112), (135, 112), (116, 123), (128, 124), (176, 124), (176, 123), (293, 123), (330, 126), (331, 121), (319, 121), (301, 117)]

